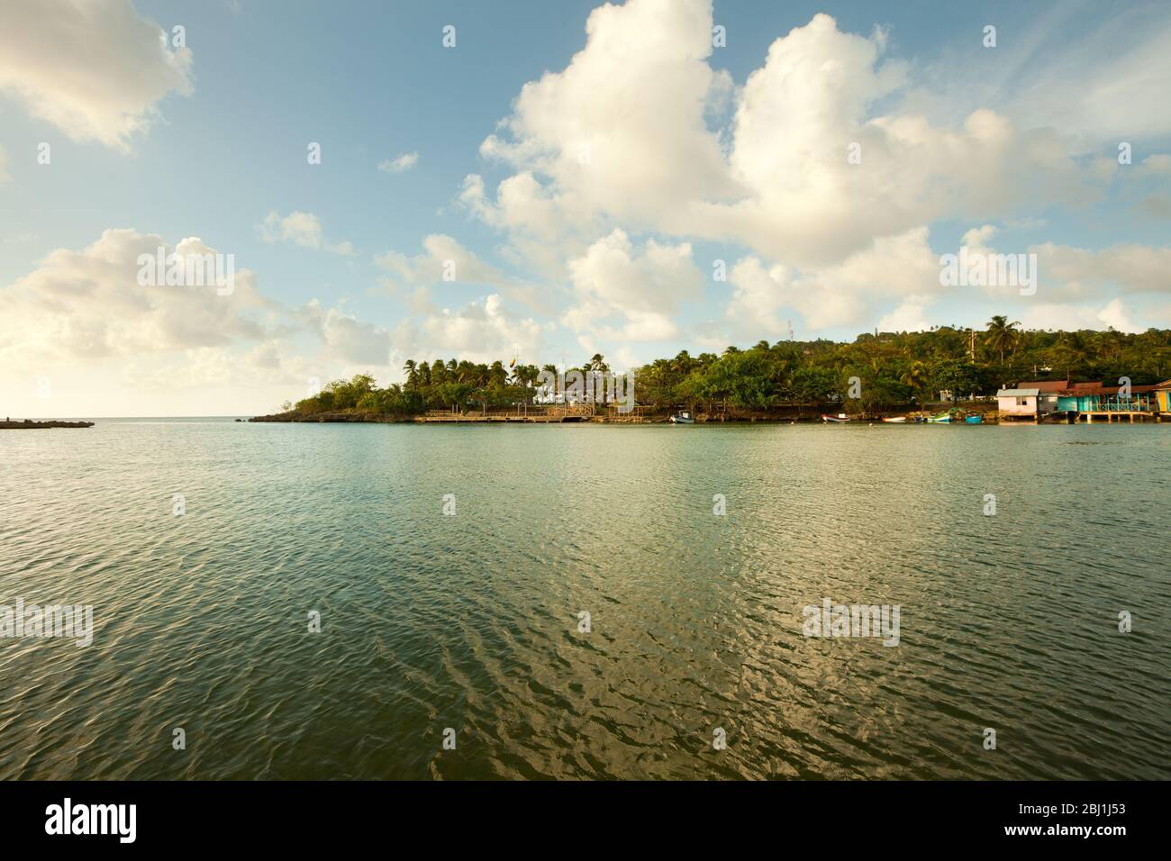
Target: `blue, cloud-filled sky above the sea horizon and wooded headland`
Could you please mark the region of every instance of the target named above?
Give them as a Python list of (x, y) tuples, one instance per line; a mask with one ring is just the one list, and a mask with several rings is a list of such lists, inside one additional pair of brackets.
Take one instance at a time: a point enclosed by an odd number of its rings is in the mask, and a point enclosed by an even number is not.
[[(6, 2), (0, 414), (1166, 328), (1167, 94), (1165, 2)], [(160, 247), (231, 287), (144, 282)], [(944, 283), (961, 250), (1035, 291)]]

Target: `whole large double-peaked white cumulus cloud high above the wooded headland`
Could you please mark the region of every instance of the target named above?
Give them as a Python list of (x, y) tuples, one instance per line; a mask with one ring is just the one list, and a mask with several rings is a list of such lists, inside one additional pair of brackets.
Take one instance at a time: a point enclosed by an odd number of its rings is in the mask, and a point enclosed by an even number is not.
[(1100, 193), (1052, 129), (987, 109), (956, 127), (899, 111), (906, 68), (885, 57), (885, 34), (824, 14), (773, 42), (719, 128), (710, 108), (731, 81), (708, 64), (711, 26), (708, 0), (595, 9), (586, 48), (527, 83), (481, 145), (515, 172), (494, 196), (468, 176), (460, 200), (542, 266), (550, 242), (566, 259), (614, 226), (826, 266), (937, 218)]

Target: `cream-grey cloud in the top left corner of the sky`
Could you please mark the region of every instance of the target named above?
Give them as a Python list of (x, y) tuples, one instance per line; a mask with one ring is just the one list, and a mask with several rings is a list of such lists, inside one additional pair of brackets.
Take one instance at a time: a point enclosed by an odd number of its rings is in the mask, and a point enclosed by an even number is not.
[(129, 0), (0, 4), (0, 90), (75, 141), (128, 150), (157, 102), (193, 90), (191, 66)]

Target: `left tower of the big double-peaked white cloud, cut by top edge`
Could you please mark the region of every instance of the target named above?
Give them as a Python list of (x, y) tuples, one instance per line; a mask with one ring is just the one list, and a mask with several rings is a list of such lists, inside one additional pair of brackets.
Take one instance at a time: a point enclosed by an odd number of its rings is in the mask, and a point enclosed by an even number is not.
[(549, 242), (581, 253), (605, 232), (603, 217), (658, 227), (692, 200), (737, 192), (705, 127), (712, 101), (730, 88), (706, 62), (710, 8), (631, 0), (594, 9), (586, 29), (586, 48), (563, 71), (525, 84), (502, 132), (480, 148), (516, 173), (494, 199), (473, 175), (461, 197), (550, 273), (559, 261)]

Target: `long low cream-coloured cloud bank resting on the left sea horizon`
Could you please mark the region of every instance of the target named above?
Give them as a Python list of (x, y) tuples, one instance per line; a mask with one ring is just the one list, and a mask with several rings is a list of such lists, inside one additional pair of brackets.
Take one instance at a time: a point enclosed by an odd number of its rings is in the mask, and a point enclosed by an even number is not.
[[(499, 294), (436, 310), (425, 286), (415, 302), (422, 315), (393, 328), (317, 300), (281, 306), (256, 291), (248, 269), (237, 269), (225, 296), (214, 285), (142, 286), (138, 258), (159, 247), (215, 253), (197, 238), (170, 246), (155, 234), (109, 230), (81, 251), (52, 252), (0, 288), (0, 390), (12, 394), (12, 415), (240, 414), (258, 403), (275, 410), (302, 397), (310, 377), (363, 371), (385, 383), (408, 356), (487, 362), (518, 349), (535, 361), (555, 328), (512, 314)], [(42, 375), (53, 383), (52, 402), (36, 394)]]

